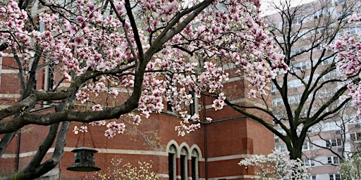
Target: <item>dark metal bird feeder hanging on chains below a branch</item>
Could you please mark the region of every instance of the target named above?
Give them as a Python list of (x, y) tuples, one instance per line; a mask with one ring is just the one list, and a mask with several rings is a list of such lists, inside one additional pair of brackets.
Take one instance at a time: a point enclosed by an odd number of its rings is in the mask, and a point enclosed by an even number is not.
[(95, 166), (94, 153), (98, 150), (93, 148), (81, 147), (75, 148), (71, 152), (75, 153), (74, 162), (71, 167), (66, 169), (75, 172), (95, 172), (99, 171), (100, 168)]

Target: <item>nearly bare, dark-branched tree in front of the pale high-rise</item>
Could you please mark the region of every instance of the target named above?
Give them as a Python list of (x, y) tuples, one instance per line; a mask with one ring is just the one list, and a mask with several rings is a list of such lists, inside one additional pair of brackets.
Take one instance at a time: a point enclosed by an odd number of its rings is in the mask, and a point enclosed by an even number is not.
[[(339, 119), (340, 110), (353, 97), (358, 98), (353, 89), (358, 88), (360, 69), (351, 66), (359, 64), (357, 44), (346, 41), (348, 38), (337, 39), (341, 34), (355, 34), (358, 25), (348, 23), (348, 18), (360, 13), (361, 8), (354, 0), (344, 4), (271, 0), (269, 5), (276, 12), (268, 17), (269, 29), (289, 68), (272, 79), (271, 93), (253, 94), (257, 103), (238, 103), (228, 98), (225, 102), (276, 134), (295, 160), (302, 157), (302, 146), (314, 125)], [(353, 55), (346, 49), (348, 46)], [(347, 63), (348, 58), (353, 62)], [(348, 75), (341, 75), (339, 70)], [(350, 82), (356, 84), (348, 85)], [(264, 114), (271, 118), (262, 117)]]

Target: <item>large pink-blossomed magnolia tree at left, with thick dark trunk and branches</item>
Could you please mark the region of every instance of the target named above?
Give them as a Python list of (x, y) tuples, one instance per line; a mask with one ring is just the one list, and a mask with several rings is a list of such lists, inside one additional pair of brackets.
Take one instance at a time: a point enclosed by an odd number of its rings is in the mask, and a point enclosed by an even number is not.
[[(125, 129), (114, 120), (123, 115), (139, 124), (169, 101), (183, 118), (176, 127), (183, 136), (200, 127), (200, 117), (185, 108), (193, 103), (188, 89), (197, 97), (215, 94), (214, 108), (223, 107), (222, 83), (228, 79), (223, 63), (233, 63), (235, 75), (247, 77), (259, 94), (287, 68), (259, 18), (257, 0), (1, 4), (0, 56), (13, 57), (21, 98), (0, 110), (0, 134), (5, 134), (0, 155), (25, 125), (50, 126), (29, 165), (13, 176), (16, 179), (36, 178), (58, 164), (69, 122), (104, 125), (105, 136), (112, 137)], [(53, 72), (50, 86), (34, 89), (44, 69)], [(104, 103), (100, 96), (114, 101)], [(85, 105), (77, 108), (78, 103)], [(49, 113), (36, 113), (39, 104), (46, 104)], [(54, 153), (44, 159), (54, 141)]]

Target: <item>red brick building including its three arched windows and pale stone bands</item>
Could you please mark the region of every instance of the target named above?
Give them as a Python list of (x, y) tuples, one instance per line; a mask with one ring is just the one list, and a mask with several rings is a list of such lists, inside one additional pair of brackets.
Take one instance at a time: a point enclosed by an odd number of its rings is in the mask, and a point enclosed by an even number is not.
[[(20, 98), (18, 91), (16, 67), (11, 64), (10, 54), (1, 59), (0, 66), (0, 96), (1, 108), (8, 103), (6, 99)], [(37, 89), (46, 89), (47, 70), (37, 74)], [(245, 79), (233, 77), (226, 84), (226, 91), (232, 96), (231, 101), (254, 103), (245, 95)], [(152, 114), (143, 120), (139, 126), (126, 124), (126, 133), (118, 134), (113, 139), (104, 136), (104, 127), (90, 127), (90, 133), (75, 135), (68, 131), (64, 155), (59, 165), (46, 174), (49, 179), (81, 179), (91, 177), (94, 172), (71, 172), (66, 168), (73, 163), (75, 145), (96, 148), (97, 167), (104, 174), (111, 168), (111, 160), (122, 159), (122, 162), (136, 164), (152, 162), (152, 171), (160, 179), (251, 179), (252, 169), (238, 166), (242, 158), (252, 154), (271, 153), (274, 148), (274, 136), (270, 131), (235, 110), (225, 106), (223, 110), (212, 108), (212, 99), (202, 97), (197, 102), (202, 105), (201, 119), (212, 117), (213, 121), (202, 124), (184, 137), (178, 136), (174, 127), (180, 120), (176, 113), (164, 110), (160, 114)], [(46, 113), (47, 108), (39, 113)], [(121, 120), (118, 120), (121, 121)], [(205, 122), (205, 120), (204, 120)], [(270, 120), (271, 122), (271, 120)], [(73, 122), (71, 128), (81, 124)], [(30, 125), (18, 133), (13, 142), (0, 158), (1, 175), (11, 174), (16, 169), (22, 169), (35, 155), (39, 145), (46, 136), (49, 127)], [(0, 135), (1, 137), (4, 135)], [(84, 138), (84, 139), (83, 139)], [(84, 144), (82, 144), (84, 143)], [(93, 147), (92, 147), (93, 148)], [(48, 151), (51, 155), (54, 148)], [(91, 178), (90, 178), (91, 179)]]

